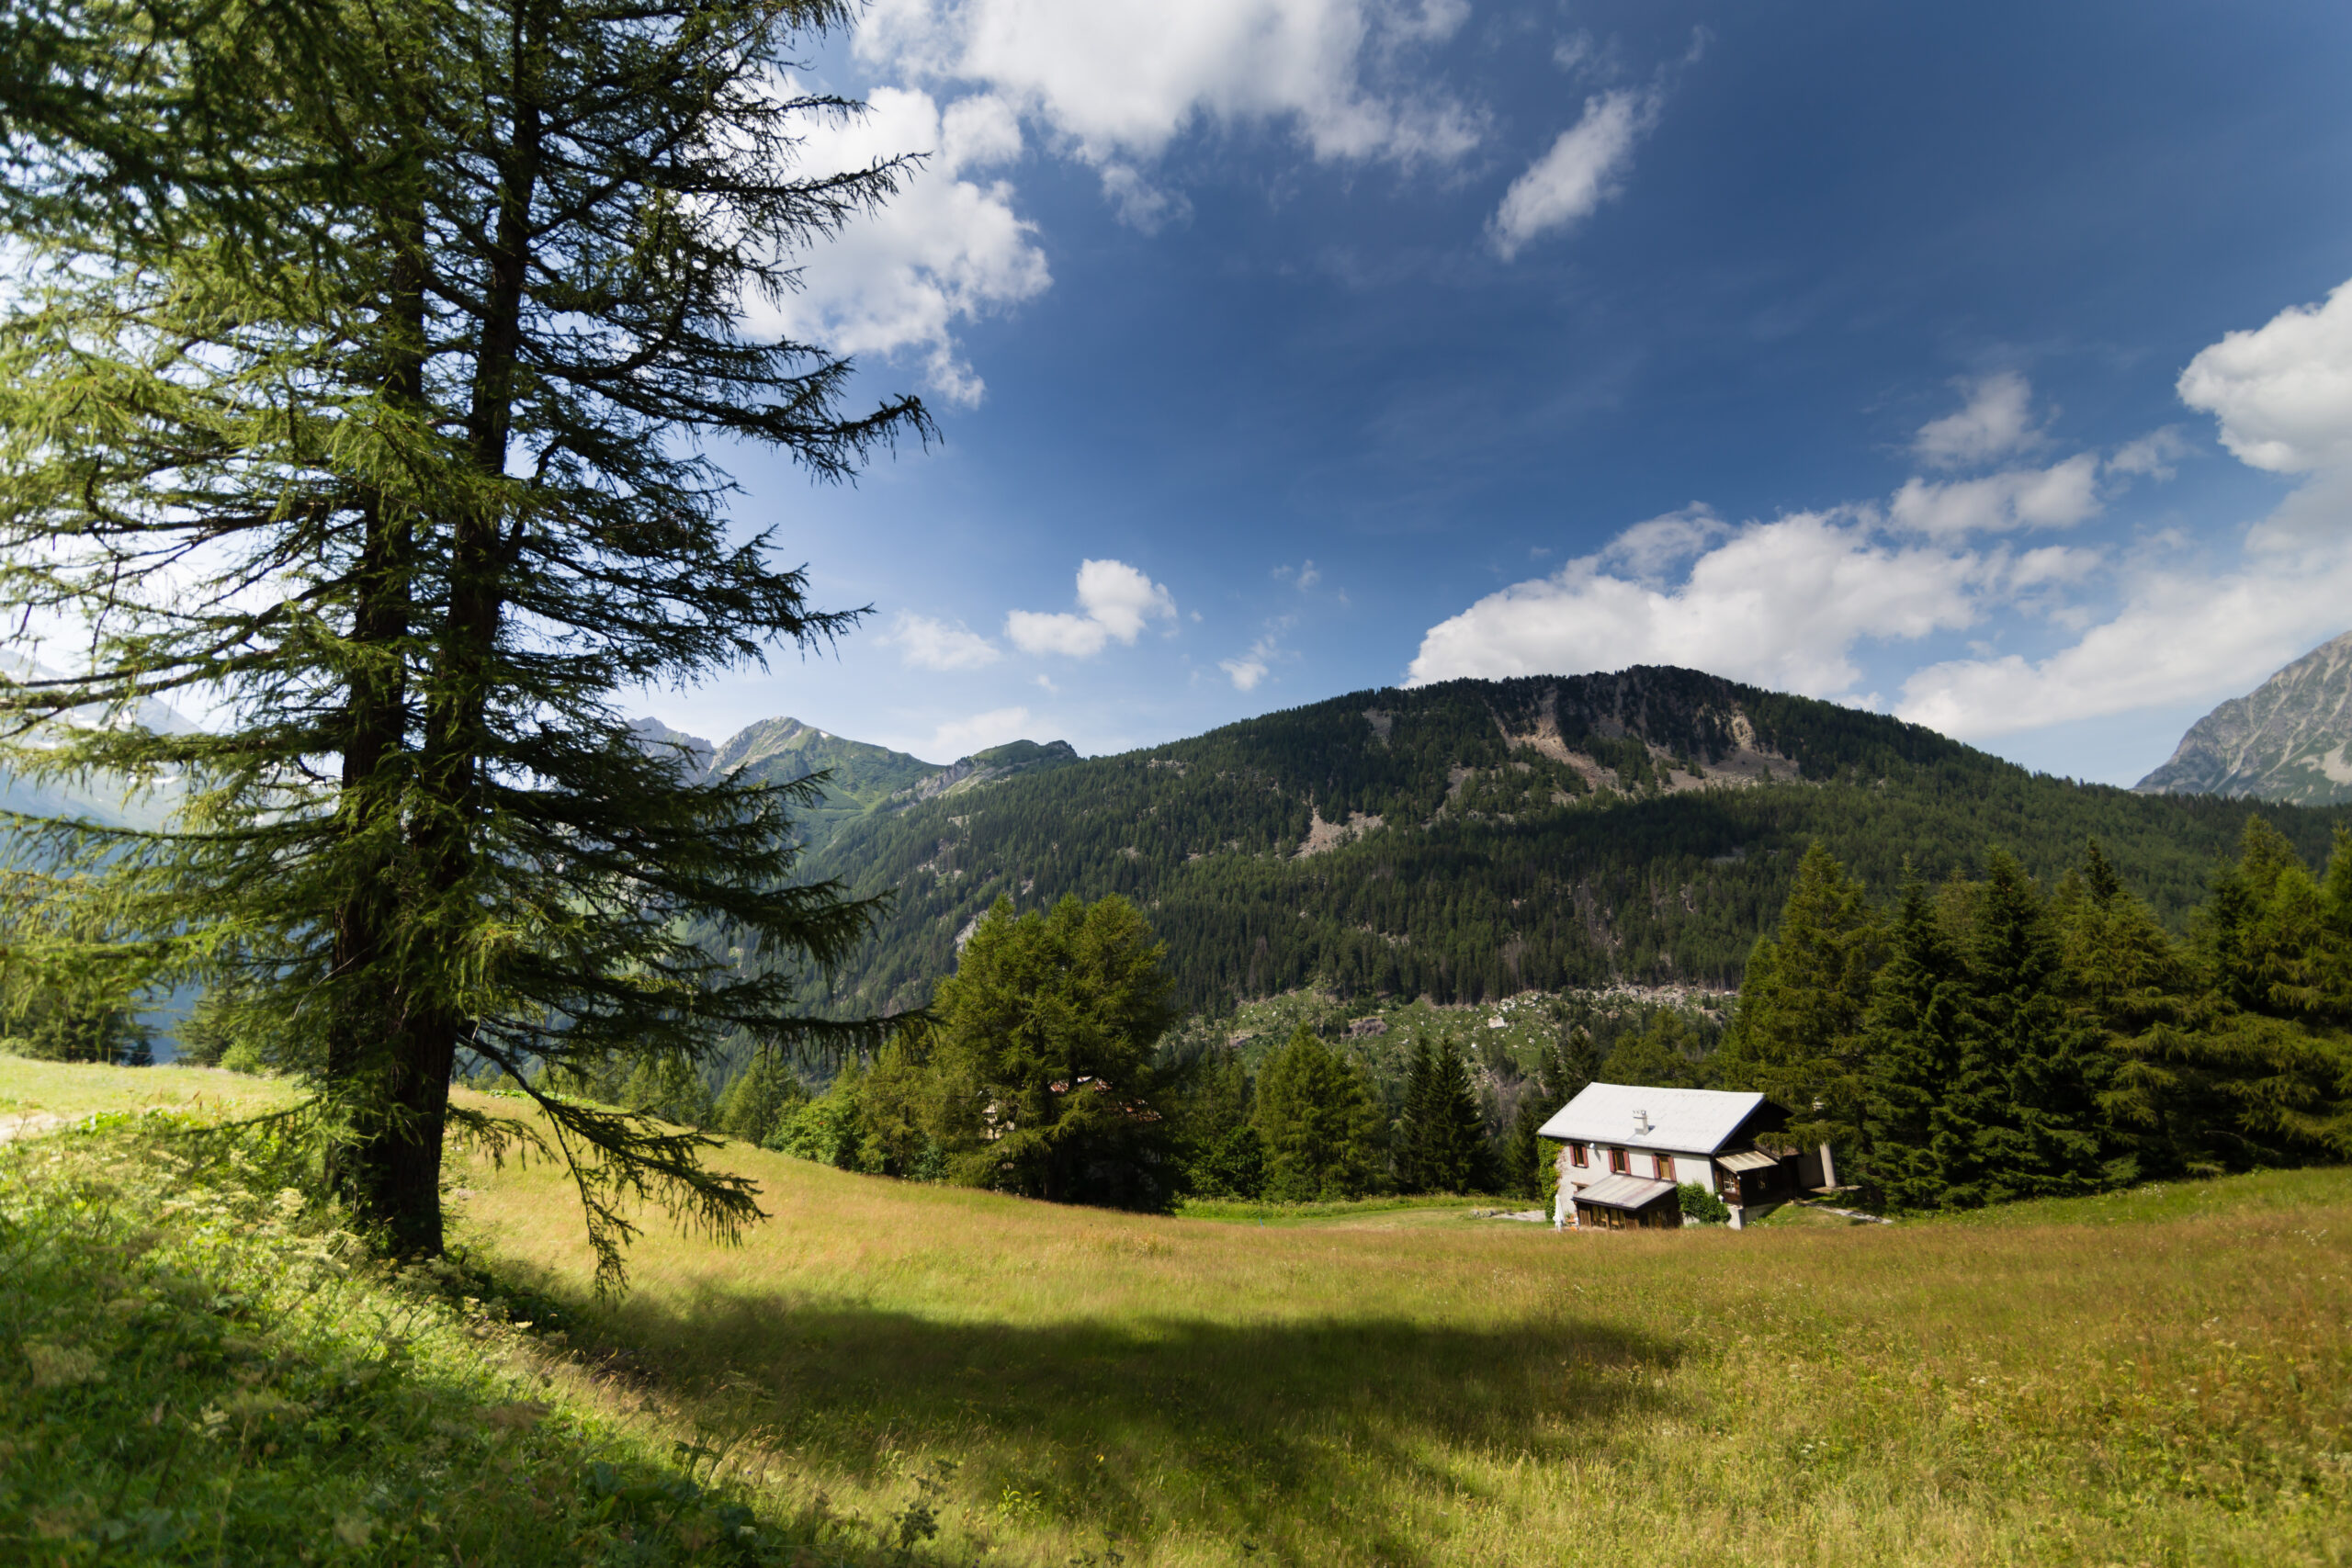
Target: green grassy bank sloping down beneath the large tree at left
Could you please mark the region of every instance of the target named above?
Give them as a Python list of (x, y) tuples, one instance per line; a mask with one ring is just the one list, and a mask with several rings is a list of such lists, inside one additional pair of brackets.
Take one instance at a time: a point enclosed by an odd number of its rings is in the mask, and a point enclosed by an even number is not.
[[(16, 1105), (80, 1114), (0, 1145), (0, 1561), (906, 1561), (920, 1493), (762, 1521), (710, 1476), (736, 1434), (689, 1422), (680, 1455), (567, 1394), (560, 1333), (461, 1267), (369, 1262), (263, 1140), (198, 1166), (198, 1117), (94, 1114), (191, 1100), (176, 1079), (0, 1060)], [(216, 1112), (285, 1098), (205, 1086)]]

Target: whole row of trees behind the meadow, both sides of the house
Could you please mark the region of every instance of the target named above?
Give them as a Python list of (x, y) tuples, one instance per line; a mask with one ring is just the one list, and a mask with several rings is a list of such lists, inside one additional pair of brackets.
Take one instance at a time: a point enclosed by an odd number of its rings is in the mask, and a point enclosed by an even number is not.
[[(1049, 954), (1084, 931), (1127, 954), (1131, 994), (1080, 1027), (1089, 966)], [(1816, 844), (1729, 1027), (1677, 1009), (1602, 1046), (1562, 1027), (1524, 1070), (1428, 1034), (1383, 1065), (1303, 1023), (1254, 1072), (1230, 1046), (1155, 1051), (1164, 952), (1117, 896), (1030, 914), (1000, 900), (934, 1018), (870, 1067), (809, 1098), (755, 1063), (715, 1100), (687, 1098), (731, 1135), (844, 1168), (1122, 1206), (1543, 1201), (1536, 1126), (1595, 1079), (1759, 1091), (1788, 1143), (1830, 1143), (1839, 1178), (1896, 1211), (2352, 1154), (2352, 837), (2338, 830), (2314, 875), (2263, 816), (2187, 933), (2096, 839), (2049, 886), (1997, 849), (1973, 877), (1905, 875), (1884, 907)], [(997, 1037), (1025, 1044), (981, 1048)], [(1101, 1088), (1073, 1098), (1089, 1077)], [(1065, 1143), (1058, 1164), (1042, 1154)]]

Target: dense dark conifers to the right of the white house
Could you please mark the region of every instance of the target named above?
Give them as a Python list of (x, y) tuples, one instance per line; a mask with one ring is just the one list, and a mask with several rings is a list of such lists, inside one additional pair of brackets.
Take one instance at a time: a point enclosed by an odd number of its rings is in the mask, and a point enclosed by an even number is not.
[(1689, 1081), (1755, 1088), (1891, 1208), (2098, 1192), (2352, 1154), (2352, 835), (2314, 875), (2263, 816), (2187, 936), (2093, 839), (2044, 886), (1900, 882), (1813, 846)]

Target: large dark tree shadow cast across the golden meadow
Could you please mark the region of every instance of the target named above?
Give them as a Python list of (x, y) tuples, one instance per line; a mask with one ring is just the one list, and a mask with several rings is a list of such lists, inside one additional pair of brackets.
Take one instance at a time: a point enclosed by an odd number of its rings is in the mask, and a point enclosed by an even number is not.
[(1183, 1528), (1289, 1561), (1334, 1528), (1376, 1561), (1425, 1561), (1411, 1505), (1446, 1507), (1461, 1460), (1590, 1453), (1668, 1406), (1658, 1373), (1682, 1356), (1573, 1316), (1016, 1328), (706, 1295), (574, 1321), (689, 1415), (760, 1425), (818, 1483), (889, 1493), (946, 1458), (971, 1516), (1127, 1542)]

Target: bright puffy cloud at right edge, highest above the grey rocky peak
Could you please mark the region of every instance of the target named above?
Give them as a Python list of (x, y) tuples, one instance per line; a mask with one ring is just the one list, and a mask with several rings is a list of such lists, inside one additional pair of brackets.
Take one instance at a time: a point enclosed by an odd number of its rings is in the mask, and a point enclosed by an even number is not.
[(2352, 468), (2352, 282), (2253, 331), (2225, 334), (2180, 371), (2180, 402), (2220, 421), (2220, 444), (2270, 473)]

